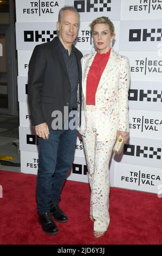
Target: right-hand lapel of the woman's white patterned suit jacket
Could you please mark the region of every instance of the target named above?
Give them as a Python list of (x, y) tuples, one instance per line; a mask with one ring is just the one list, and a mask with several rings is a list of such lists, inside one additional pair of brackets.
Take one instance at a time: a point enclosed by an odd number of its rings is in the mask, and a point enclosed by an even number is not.
[(114, 71), (114, 69), (116, 68), (117, 65), (118, 65), (118, 56), (112, 48), (111, 54), (109, 56), (108, 62), (105, 67), (105, 70), (103, 71), (103, 73), (101, 75), (97, 91), (100, 89), (102, 84), (108, 80), (109, 76), (112, 75), (112, 72)]

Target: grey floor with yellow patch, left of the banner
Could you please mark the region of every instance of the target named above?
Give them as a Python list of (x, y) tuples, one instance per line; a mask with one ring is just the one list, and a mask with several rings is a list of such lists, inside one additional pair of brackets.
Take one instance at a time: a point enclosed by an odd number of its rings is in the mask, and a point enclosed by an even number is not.
[(18, 126), (18, 117), (0, 115), (0, 169), (2, 170), (20, 172)]

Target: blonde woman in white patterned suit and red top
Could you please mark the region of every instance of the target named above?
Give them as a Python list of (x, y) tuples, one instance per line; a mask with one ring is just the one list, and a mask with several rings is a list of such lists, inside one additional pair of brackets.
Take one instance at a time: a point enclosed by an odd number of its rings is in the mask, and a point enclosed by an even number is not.
[(90, 220), (94, 236), (109, 225), (109, 159), (116, 137), (128, 140), (129, 60), (111, 48), (114, 25), (108, 17), (95, 19), (90, 28), (95, 53), (82, 62), (82, 122), (80, 133), (88, 164), (91, 188)]

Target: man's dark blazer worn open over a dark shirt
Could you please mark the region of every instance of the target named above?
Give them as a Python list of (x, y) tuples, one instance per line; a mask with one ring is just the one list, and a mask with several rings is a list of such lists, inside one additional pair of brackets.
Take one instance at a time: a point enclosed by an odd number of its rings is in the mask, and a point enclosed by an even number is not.
[[(77, 48), (75, 53), (79, 68), (79, 99), (77, 101), (81, 105), (82, 53)], [(37, 45), (31, 56), (28, 71), (31, 124), (38, 125), (46, 122), (49, 129), (52, 129), (51, 123), (54, 118), (51, 117), (51, 113), (59, 110), (63, 114), (64, 106), (70, 106), (70, 89), (66, 64), (56, 38)]]

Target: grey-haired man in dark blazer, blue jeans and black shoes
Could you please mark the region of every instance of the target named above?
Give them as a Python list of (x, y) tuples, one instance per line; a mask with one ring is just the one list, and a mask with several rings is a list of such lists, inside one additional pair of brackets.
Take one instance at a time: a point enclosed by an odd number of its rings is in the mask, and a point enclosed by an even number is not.
[[(59, 232), (57, 222), (67, 222), (60, 209), (61, 188), (72, 166), (76, 129), (65, 129), (72, 118), (63, 118), (62, 129), (53, 125), (55, 111), (64, 114), (81, 105), (82, 53), (73, 46), (79, 29), (79, 14), (73, 7), (64, 7), (57, 22), (59, 37), (37, 45), (29, 62), (28, 94), (32, 124), (39, 144), (39, 163), (36, 185), (37, 211), (42, 229), (49, 235)], [(79, 101), (77, 87), (79, 82)], [(81, 120), (81, 119), (80, 119)], [(62, 121), (62, 120), (59, 120)], [(67, 125), (66, 125), (67, 126)]]

